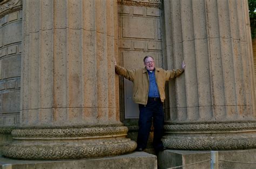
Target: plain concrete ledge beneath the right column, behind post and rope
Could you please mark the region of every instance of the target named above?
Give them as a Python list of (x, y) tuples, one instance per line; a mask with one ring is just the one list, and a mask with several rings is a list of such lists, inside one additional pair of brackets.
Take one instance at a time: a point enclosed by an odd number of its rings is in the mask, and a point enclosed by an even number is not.
[[(256, 168), (256, 164), (231, 163), (227, 161), (242, 161), (256, 163), (256, 149), (228, 150), (219, 152), (219, 168)], [(158, 154), (159, 168), (170, 168), (197, 163), (211, 159), (211, 151), (165, 150)], [(211, 161), (186, 166), (185, 168), (210, 168)]]

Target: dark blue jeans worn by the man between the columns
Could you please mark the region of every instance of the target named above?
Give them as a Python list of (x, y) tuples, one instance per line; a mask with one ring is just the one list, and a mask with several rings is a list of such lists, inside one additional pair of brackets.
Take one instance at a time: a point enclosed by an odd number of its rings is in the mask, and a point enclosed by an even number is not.
[(147, 104), (139, 104), (139, 132), (137, 138), (138, 148), (145, 149), (147, 139), (149, 139), (150, 128), (154, 126), (153, 147), (154, 150), (160, 151), (163, 149), (161, 137), (164, 133), (164, 110), (163, 103), (160, 98), (154, 100), (149, 97)]

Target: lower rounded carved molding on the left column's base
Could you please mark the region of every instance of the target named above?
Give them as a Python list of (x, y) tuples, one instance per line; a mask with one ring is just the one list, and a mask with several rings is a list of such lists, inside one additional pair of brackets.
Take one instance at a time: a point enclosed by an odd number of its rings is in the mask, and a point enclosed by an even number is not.
[(83, 144), (10, 144), (3, 147), (3, 155), (17, 159), (79, 159), (116, 156), (134, 151), (136, 147), (136, 142), (128, 138)]

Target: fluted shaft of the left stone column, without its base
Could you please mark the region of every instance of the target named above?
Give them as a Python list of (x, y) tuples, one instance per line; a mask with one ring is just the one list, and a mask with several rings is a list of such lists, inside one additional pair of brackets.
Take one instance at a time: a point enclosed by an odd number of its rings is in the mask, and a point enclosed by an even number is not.
[(24, 1), (23, 11), (21, 125), (120, 124), (117, 3)]

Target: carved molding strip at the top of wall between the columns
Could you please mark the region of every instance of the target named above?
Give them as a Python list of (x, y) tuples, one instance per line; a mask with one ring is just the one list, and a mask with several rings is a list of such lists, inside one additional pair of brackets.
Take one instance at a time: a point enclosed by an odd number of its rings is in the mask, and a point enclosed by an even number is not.
[(161, 8), (160, 0), (118, 0), (119, 5), (129, 5), (129, 6), (145, 6), (149, 8)]

